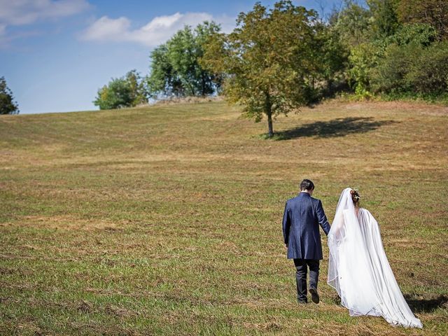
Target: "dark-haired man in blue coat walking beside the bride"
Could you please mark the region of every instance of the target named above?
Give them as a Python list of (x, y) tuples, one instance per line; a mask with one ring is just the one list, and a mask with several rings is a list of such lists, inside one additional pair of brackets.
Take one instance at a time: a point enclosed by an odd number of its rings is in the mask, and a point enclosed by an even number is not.
[(307, 303), (307, 270), (309, 267), (309, 293), (314, 303), (319, 302), (317, 281), (319, 260), (322, 258), (321, 234), (318, 225), (328, 235), (328, 223), (322, 202), (313, 195), (314, 183), (305, 179), (300, 193), (286, 202), (283, 214), (283, 239), (288, 248), (288, 259), (294, 260), (297, 272), (297, 301)]

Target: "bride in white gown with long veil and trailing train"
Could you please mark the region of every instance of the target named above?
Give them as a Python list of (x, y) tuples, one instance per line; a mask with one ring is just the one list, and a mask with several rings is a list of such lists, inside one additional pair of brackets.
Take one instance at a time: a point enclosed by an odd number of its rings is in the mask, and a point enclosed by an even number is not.
[(359, 208), (360, 196), (346, 188), (328, 233), (328, 284), (351, 316), (383, 316), (391, 325), (422, 328), (412, 314), (384, 253), (379, 226)]

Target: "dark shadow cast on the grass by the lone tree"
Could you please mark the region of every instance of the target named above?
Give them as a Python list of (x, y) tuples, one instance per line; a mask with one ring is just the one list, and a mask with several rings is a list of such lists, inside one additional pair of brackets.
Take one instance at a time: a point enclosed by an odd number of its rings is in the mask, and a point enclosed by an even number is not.
[(375, 121), (372, 117), (337, 118), (330, 121), (316, 121), (291, 130), (276, 132), (274, 139), (289, 140), (301, 137), (332, 138), (345, 137), (348, 134), (365, 133), (377, 128), (397, 123), (393, 120)]

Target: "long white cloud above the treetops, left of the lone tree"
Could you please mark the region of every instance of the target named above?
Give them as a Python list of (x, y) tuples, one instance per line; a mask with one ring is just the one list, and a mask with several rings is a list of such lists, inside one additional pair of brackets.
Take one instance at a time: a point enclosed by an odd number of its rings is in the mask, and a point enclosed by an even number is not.
[(209, 13), (175, 13), (153, 18), (146, 25), (131, 29), (131, 21), (125, 17), (111, 19), (107, 16), (99, 18), (87, 27), (80, 39), (84, 41), (135, 42), (147, 46), (164, 43), (184, 25), (196, 26), (204, 21), (214, 20), (221, 23), (223, 31), (231, 31), (235, 19), (226, 15), (214, 18)]

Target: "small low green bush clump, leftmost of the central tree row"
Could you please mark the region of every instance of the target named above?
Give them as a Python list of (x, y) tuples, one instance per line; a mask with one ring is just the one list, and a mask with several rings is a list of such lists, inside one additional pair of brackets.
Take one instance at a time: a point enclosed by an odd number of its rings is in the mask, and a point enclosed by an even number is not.
[(108, 85), (98, 90), (93, 103), (104, 110), (132, 107), (147, 102), (144, 80), (136, 70), (132, 70), (124, 77), (112, 78)]

